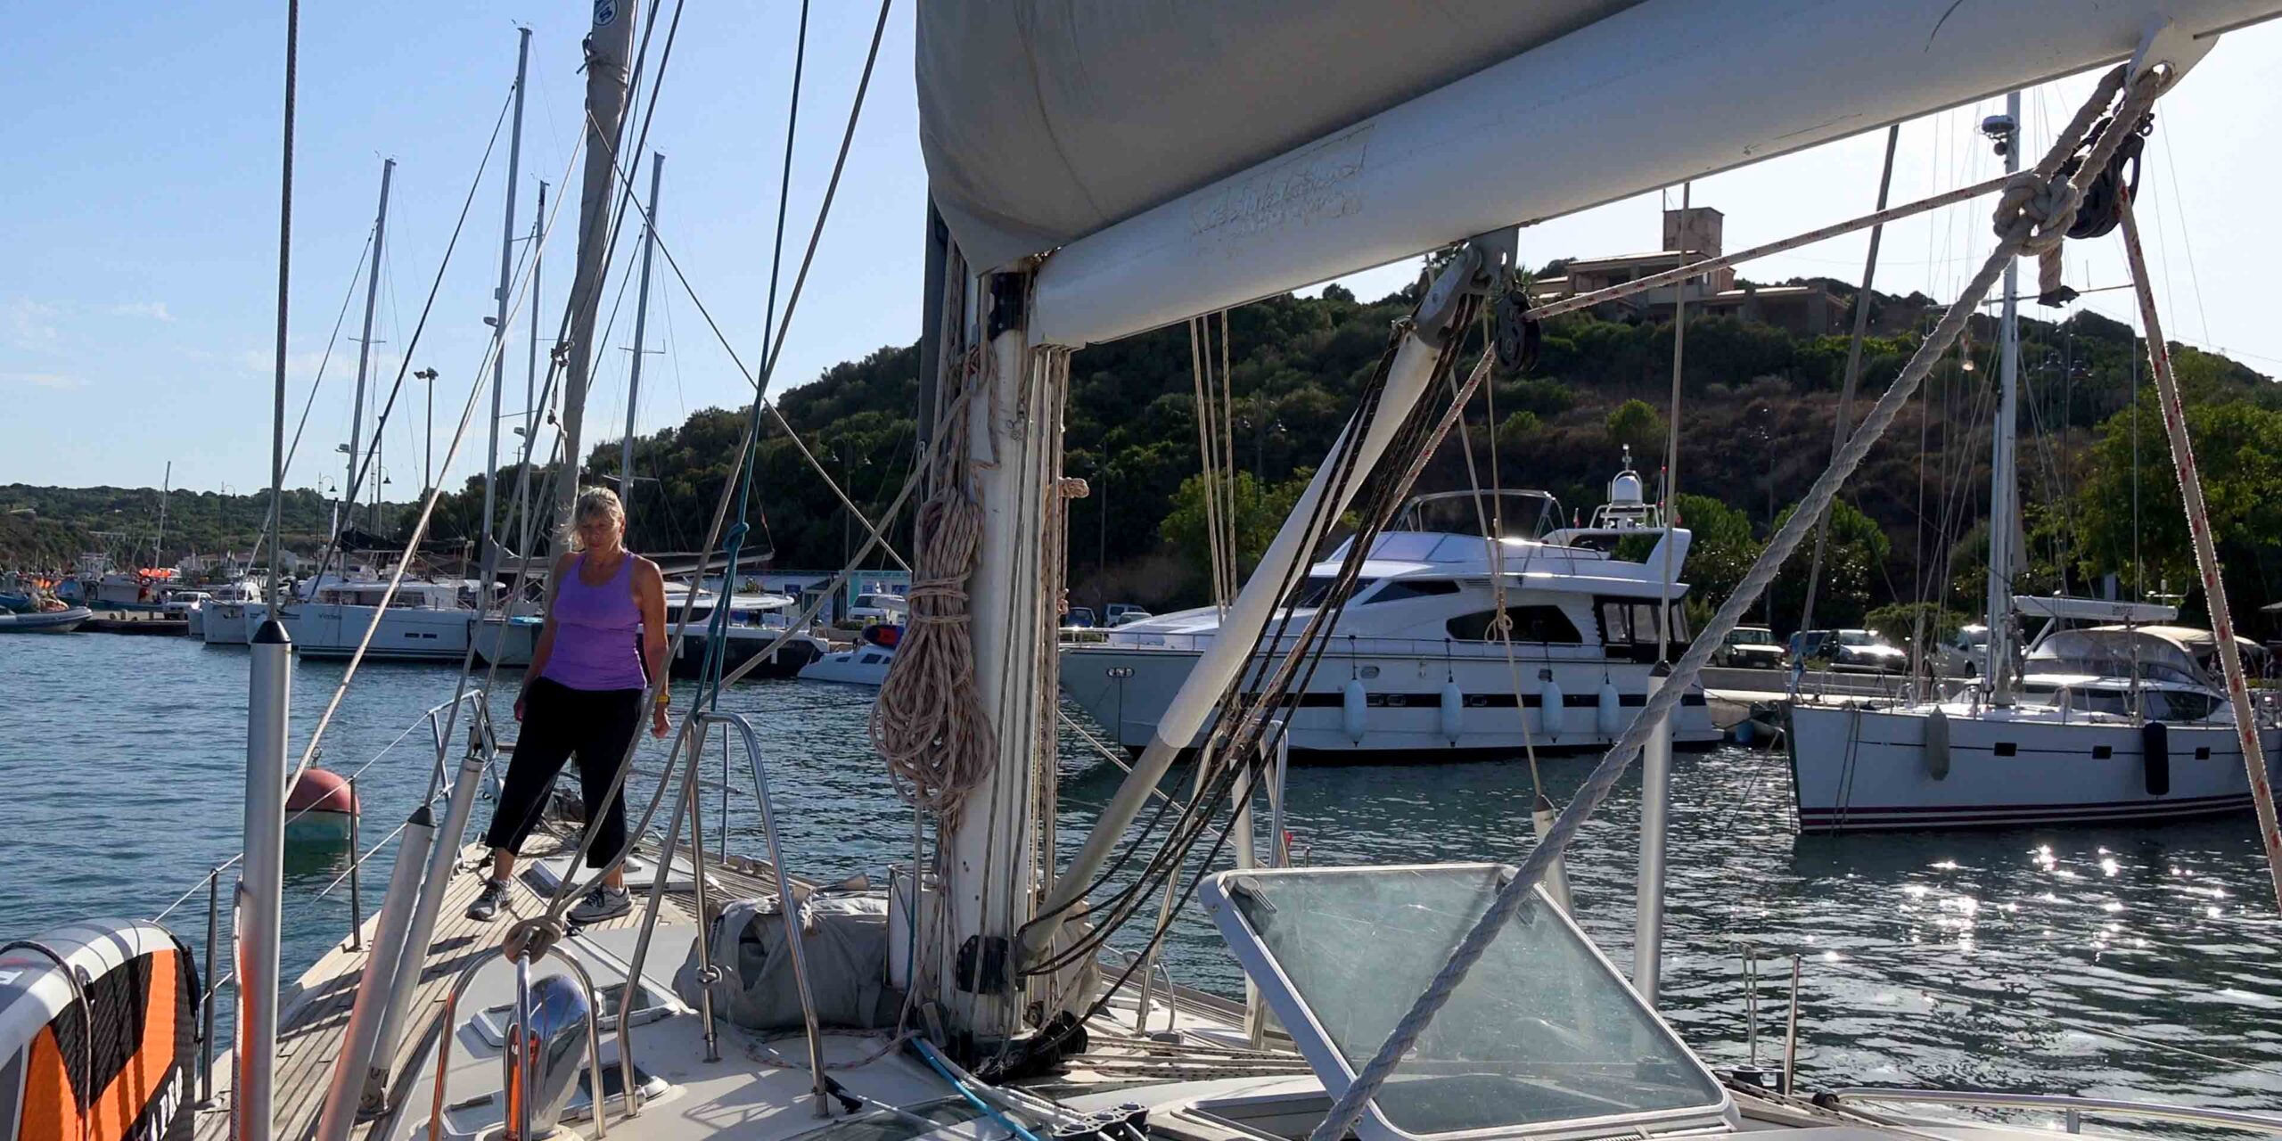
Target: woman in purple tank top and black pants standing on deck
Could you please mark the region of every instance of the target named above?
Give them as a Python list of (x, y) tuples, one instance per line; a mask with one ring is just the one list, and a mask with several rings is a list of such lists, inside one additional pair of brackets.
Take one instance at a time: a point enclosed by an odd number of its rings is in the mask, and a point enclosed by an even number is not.
[[(586, 867), (618, 858), (625, 847), (625, 794), (621, 790), (609, 806), (600, 801), (641, 730), (641, 694), (653, 678), (650, 735), (666, 735), (666, 580), (657, 564), (625, 550), (625, 507), (616, 493), (582, 491), (570, 518), (573, 550), (555, 559), (545, 625), (516, 696), (523, 735), (484, 835), (491, 881), (468, 906), (470, 920), (500, 913), (516, 851), (539, 824), (548, 787), (573, 755), (586, 826), (598, 831)], [(609, 920), (632, 906), (625, 869), (614, 867), (570, 908), (570, 922)]]

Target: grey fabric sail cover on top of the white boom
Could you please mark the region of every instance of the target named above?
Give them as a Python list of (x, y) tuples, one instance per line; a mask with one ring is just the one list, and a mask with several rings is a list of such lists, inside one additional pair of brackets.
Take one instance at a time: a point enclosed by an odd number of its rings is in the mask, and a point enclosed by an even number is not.
[(1123, 221), (1638, 0), (929, 0), (920, 148), (970, 265)]

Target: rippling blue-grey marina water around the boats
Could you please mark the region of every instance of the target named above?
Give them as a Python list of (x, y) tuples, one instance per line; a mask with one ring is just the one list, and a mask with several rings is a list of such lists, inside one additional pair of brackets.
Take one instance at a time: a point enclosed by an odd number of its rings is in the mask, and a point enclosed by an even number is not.
[[(292, 755), (340, 671), (338, 662), (294, 666)], [(148, 917), (192, 892), (167, 924), (201, 949), (205, 869), (240, 844), (244, 650), (16, 637), (0, 641), (0, 675), (9, 678), (0, 938), (87, 915)], [(420, 714), (450, 698), (452, 682), (450, 669), (367, 664), (326, 730), (322, 764), (333, 771), (379, 755), (358, 780), (365, 847), (424, 792), (434, 746)], [(680, 691), (687, 701), (689, 685)], [(502, 737), (511, 735), (511, 694), (513, 682), (502, 685), (495, 703)], [(888, 863), (911, 860), (911, 812), (865, 739), (869, 701), (869, 689), (815, 682), (748, 682), (723, 698), (762, 735), (794, 874), (879, 881)], [(646, 748), (655, 771), (664, 744)], [(710, 778), (719, 778), (719, 755), (707, 753)], [(1568, 799), (1591, 762), (1543, 762), (1554, 801)], [(1175, 769), (1171, 780), (1184, 776)], [(1077, 735), (1063, 735), (1063, 853), (1118, 780)], [(751, 785), (742, 758), (730, 783)], [(2282, 922), (2248, 815), (2150, 828), (1800, 837), (1780, 753), (1682, 753), (1673, 785), (1664, 1011), (1714, 1063), (1743, 1061), (1741, 942), (1750, 940), (1762, 952), (1762, 1063), (1780, 1063), (1787, 956), (1805, 961), (1807, 1089), (1983, 1086), (2282, 1109), (2282, 963), (2273, 954)], [(1579, 920), (1618, 965), (1632, 945), (1636, 787), (1620, 787), (1586, 826), (1568, 867)], [(634, 810), (646, 794), (637, 778)], [(1531, 801), (1520, 758), (1296, 767), (1289, 831), (1294, 856), (1314, 865), (1518, 863)], [(707, 790), (705, 808), (714, 828), (719, 792)], [(470, 835), (488, 819), (491, 803), (477, 803)], [(733, 794), (728, 819), (730, 851), (760, 853), (748, 794)], [(349, 888), (333, 885), (345, 869), (342, 847), (288, 851), (288, 979), (347, 938)], [(361, 883), (370, 917), (388, 883), (386, 849)], [(224, 874), (224, 924), (228, 890)], [(1143, 926), (1118, 945), (1132, 947)], [(1171, 972), (1187, 986), (1241, 993), (1193, 906), (1173, 931)]]

